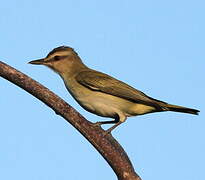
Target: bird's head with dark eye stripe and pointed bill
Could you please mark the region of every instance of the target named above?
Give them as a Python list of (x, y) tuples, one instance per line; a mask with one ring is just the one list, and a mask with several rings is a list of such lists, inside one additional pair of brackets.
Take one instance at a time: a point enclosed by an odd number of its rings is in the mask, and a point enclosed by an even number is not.
[(60, 46), (53, 49), (45, 58), (30, 61), (29, 64), (45, 65), (61, 74), (83, 65), (73, 48)]

